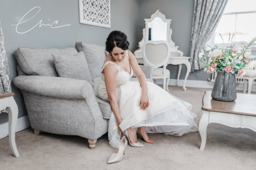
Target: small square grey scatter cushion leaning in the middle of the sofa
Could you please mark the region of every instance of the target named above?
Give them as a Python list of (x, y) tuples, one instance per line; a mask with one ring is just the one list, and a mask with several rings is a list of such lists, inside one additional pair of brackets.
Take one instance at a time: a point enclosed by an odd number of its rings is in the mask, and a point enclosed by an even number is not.
[(66, 53), (52, 54), (54, 65), (59, 77), (87, 80), (92, 83), (92, 77), (83, 51), (76, 55)]

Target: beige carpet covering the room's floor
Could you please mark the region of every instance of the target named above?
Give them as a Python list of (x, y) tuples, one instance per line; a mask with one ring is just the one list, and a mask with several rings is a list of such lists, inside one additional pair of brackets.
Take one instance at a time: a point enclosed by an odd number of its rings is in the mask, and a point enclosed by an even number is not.
[[(169, 86), (170, 93), (193, 105), (198, 115), (204, 91), (210, 89)], [(256, 94), (256, 93), (254, 93)], [(108, 144), (105, 134), (90, 150), (88, 141), (79, 136), (43, 132), (39, 136), (28, 128), (16, 133), (19, 158), (12, 155), (9, 138), (0, 140), (0, 170), (255, 170), (256, 132), (212, 123), (207, 128), (204, 151), (199, 132), (183, 136), (148, 134), (155, 143), (143, 148), (126, 147), (123, 160), (107, 164), (108, 157), (117, 152)]]

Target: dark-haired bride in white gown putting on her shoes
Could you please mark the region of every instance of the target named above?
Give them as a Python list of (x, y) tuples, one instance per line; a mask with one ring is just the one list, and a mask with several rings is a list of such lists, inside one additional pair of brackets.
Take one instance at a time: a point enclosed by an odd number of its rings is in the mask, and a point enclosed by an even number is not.
[[(145, 142), (154, 143), (147, 133), (182, 136), (198, 131), (196, 115), (190, 112), (192, 105), (146, 81), (128, 46), (127, 36), (120, 31), (111, 32), (106, 41), (109, 54), (102, 66), (98, 94), (112, 108), (108, 127), (110, 144), (119, 148), (123, 135), (131, 146), (141, 147), (144, 145), (137, 141), (137, 134)], [(130, 81), (133, 74), (139, 81)]]

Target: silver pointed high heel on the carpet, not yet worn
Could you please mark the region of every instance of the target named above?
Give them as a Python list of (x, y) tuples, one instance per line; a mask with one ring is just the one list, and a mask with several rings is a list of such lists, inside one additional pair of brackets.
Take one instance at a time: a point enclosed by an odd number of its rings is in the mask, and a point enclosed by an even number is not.
[(115, 162), (119, 162), (120, 160), (122, 160), (122, 156), (124, 154), (124, 149), (127, 146), (127, 140), (125, 138), (125, 136), (122, 137), (122, 139), (119, 142), (119, 150), (117, 154), (112, 154), (109, 158), (108, 158), (108, 164), (111, 163), (115, 163)]

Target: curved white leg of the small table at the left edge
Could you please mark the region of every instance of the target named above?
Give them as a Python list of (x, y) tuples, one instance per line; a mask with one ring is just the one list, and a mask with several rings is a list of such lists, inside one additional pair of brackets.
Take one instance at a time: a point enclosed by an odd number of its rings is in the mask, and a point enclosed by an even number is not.
[(12, 153), (16, 158), (20, 156), (18, 149), (16, 147), (15, 142), (15, 128), (16, 123), (18, 119), (18, 106), (16, 102), (14, 101), (13, 97), (8, 97), (10, 107), (6, 107), (6, 110), (8, 111), (8, 117), (9, 117), (9, 142), (12, 149)]

